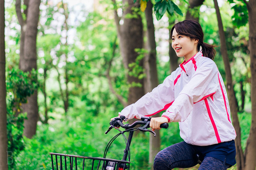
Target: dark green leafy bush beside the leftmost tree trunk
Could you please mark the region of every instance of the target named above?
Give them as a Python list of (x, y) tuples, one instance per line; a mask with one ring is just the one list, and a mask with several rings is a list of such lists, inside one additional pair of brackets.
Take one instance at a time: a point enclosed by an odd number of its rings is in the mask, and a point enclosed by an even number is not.
[[(22, 113), (22, 104), (27, 102), (27, 97), (37, 89), (37, 73), (23, 73), (19, 69), (8, 70), (7, 89), (7, 134), (8, 154), (10, 167), (15, 167), (15, 157), (24, 149), (23, 122), (26, 114)], [(14, 156), (14, 157), (13, 157)], [(10, 162), (11, 161), (11, 162)]]

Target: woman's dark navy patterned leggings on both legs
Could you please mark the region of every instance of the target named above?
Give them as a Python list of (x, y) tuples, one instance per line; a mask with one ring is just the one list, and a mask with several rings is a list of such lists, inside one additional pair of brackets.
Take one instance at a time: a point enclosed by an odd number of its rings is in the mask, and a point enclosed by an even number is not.
[[(186, 142), (171, 145), (155, 156), (154, 170), (171, 170), (172, 168), (190, 168), (197, 165), (195, 150)], [(229, 167), (219, 159), (206, 157), (198, 170), (226, 170)]]

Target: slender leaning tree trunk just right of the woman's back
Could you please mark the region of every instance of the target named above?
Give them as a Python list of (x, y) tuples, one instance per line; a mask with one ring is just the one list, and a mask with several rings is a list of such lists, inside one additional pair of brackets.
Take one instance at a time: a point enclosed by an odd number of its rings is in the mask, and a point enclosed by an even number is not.
[(233, 84), (232, 84), (232, 74), (230, 70), (230, 64), (229, 64), (229, 58), (227, 53), (227, 47), (226, 47), (226, 39), (225, 34), (223, 30), (221, 15), (219, 12), (219, 6), (217, 0), (214, 1), (214, 6), (217, 14), (218, 19), (218, 26), (219, 26), (219, 38), (220, 38), (220, 51), (222, 54), (222, 59), (225, 66), (225, 72), (226, 72), (226, 81), (227, 81), (227, 91), (228, 91), (228, 97), (229, 97), (229, 106), (230, 106), (230, 112), (232, 116), (232, 122), (236, 130), (236, 165), (237, 169), (241, 170), (244, 167), (244, 155), (241, 147), (241, 130), (240, 130), (240, 124), (237, 116), (237, 105), (236, 105), (236, 98), (233, 90)]

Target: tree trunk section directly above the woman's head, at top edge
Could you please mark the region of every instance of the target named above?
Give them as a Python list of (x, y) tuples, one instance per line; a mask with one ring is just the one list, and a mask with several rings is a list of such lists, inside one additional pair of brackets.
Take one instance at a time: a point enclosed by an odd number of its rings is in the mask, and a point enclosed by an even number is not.
[(199, 8), (204, 0), (189, 0), (189, 7), (186, 13), (186, 19), (194, 19), (199, 22)]

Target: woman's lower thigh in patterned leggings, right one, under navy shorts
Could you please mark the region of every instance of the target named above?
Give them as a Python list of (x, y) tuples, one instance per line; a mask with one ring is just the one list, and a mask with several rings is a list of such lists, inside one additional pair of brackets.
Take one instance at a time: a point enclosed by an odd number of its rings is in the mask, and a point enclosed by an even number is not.
[(229, 165), (226, 164), (226, 160), (223, 162), (216, 158), (206, 157), (202, 161), (198, 170), (226, 170), (228, 167)]

